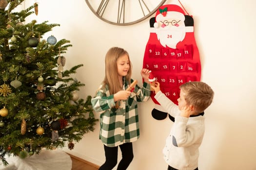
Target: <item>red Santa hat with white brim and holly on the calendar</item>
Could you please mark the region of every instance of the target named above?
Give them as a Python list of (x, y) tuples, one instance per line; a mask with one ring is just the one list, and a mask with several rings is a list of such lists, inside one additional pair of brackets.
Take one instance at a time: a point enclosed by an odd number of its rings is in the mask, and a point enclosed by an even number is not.
[[(159, 7), (156, 13), (156, 23), (159, 21), (164, 21), (169, 18), (177, 18), (181, 21), (185, 20), (185, 13), (182, 8), (178, 5), (162, 5)], [(155, 23), (155, 24), (156, 24)], [(154, 24), (154, 27), (157, 25)]]

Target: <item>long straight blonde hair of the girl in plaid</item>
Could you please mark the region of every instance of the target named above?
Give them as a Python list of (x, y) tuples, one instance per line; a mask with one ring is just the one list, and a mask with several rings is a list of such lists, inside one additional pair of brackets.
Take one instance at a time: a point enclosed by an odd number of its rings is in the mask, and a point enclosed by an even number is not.
[(126, 81), (128, 84), (131, 83), (131, 76), (132, 76), (132, 63), (130, 61), (130, 57), (127, 51), (122, 48), (112, 47), (109, 49), (105, 56), (105, 78), (103, 80), (103, 85), (108, 85), (109, 92), (111, 94), (117, 93), (119, 90), (122, 89), (118, 80), (118, 66), (117, 60), (120, 56), (127, 55), (129, 59), (129, 70), (127, 75), (125, 76)]

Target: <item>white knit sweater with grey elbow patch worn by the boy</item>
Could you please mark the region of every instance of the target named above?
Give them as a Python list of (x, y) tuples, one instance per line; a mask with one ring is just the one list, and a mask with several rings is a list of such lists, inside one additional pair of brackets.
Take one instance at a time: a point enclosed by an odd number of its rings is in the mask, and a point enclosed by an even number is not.
[(175, 117), (163, 149), (165, 161), (177, 170), (195, 170), (198, 167), (198, 148), (204, 135), (204, 117), (181, 117), (178, 106), (161, 91), (155, 95), (155, 99), (171, 116)]

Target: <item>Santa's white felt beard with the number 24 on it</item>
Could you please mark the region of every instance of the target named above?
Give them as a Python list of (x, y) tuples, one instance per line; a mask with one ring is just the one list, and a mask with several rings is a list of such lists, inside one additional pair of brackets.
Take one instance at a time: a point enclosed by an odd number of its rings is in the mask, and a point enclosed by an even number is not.
[(164, 28), (159, 27), (156, 30), (158, 40), (163, 47), (170, 47), (176, 49), (178, 42), (182, 41), (186, 34), (185, 26), (166, 26)]

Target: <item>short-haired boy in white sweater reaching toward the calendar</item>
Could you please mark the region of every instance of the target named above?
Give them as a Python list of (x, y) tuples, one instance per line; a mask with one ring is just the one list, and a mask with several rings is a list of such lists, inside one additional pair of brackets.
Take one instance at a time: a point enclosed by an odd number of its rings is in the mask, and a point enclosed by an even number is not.
[(180, 85), (178, 105), (161, 91), (160, 84), (151, 86), (155, 99), (173, 117), (175, 122), (163, 149), (168, 170), (198, 170), (199, 146), (204, 135), (204, 110), (212, 103), (214, 91), (203, 82)]

